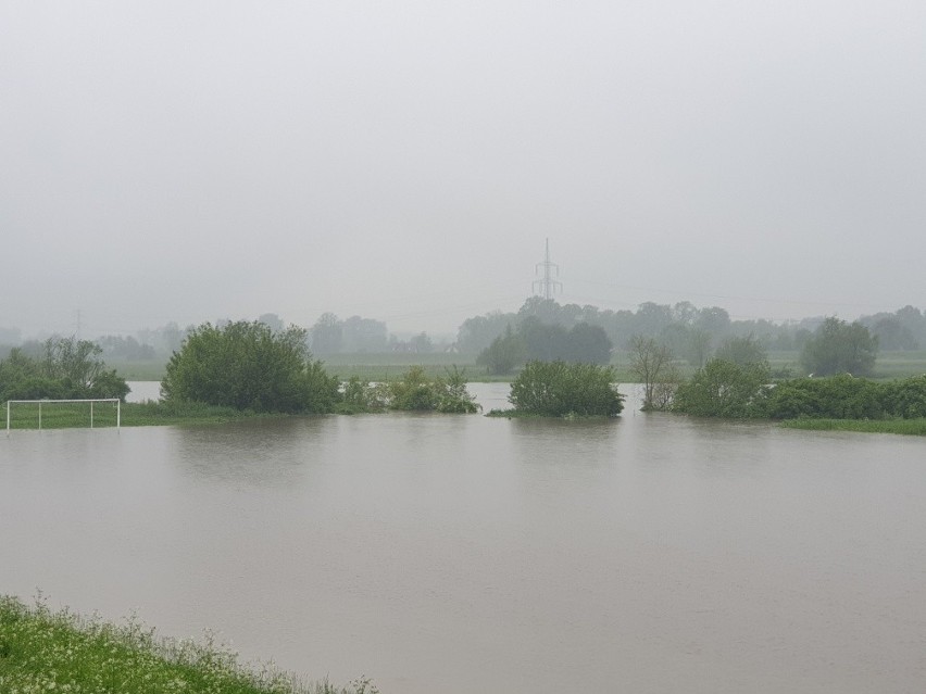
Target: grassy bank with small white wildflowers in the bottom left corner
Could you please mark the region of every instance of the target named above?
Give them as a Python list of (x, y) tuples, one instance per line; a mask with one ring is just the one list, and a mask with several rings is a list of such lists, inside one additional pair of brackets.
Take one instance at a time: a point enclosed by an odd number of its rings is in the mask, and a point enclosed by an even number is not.
[(0, 596), (0, 692), (4, 694), (376, 694), (367, 679), (349, 686), (309, 683), (271, 666), (249, 668), (216, 645), (157, 639), (136, 620), (115, 626), (27, 607)]

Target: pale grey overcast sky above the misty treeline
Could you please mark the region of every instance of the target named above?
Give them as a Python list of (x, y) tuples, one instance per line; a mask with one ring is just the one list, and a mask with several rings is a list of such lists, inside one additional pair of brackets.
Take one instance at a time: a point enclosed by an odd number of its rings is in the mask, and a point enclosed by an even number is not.
[(0, 326), (926, 308), (926, 3), (0, 3)]

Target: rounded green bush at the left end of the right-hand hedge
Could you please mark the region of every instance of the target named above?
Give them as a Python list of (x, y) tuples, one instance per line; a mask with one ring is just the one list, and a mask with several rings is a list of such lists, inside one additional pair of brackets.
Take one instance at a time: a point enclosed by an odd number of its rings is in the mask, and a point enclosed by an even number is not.
[(672, 408), (699, 417), (759, 417), (769, 378), (767, 363), (712, 358), (678, 387)]

